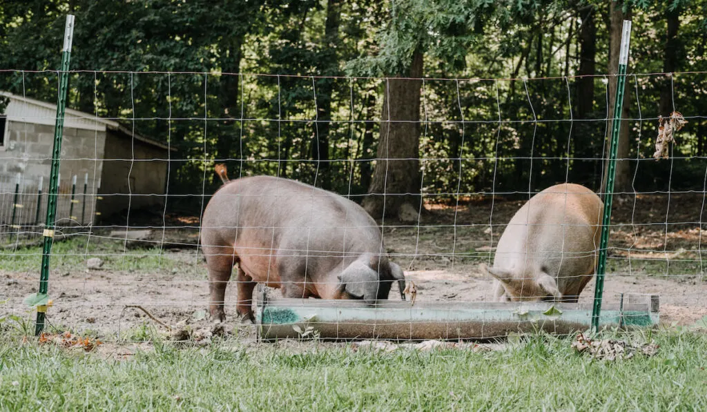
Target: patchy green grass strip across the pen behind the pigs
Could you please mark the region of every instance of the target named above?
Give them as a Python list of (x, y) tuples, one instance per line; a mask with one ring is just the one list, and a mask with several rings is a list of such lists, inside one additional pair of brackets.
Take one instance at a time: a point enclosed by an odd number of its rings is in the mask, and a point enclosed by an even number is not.
[[(489, 235), (479, 228), (463, 227), (458, 230), (457, 248), (459, 254), (455, 261), (460, 264), (475, 266), (493, 259), (493, 251), (477, 250), (477, 247), (488, 246)], [(439, 266), (445, 269), (445, 261), (449, 261), (452, 253), (452, 232), (450, 228), (425, 228), (418, 234), (415, 228), (400, 228), (390, 237), (387, 245), (393, 247), (392, 252), (402, 266), (407, 266), (416, 257), (416, 252), (426, 263), (423, 266)], [(416, 242), (410, 239), (419, 237), (419, 250)], [(498, 240), (498, 236), (496, 236)], [(444, 247), (440, 246), (444, 245)], [(203, 277), (205, 270), (201, 256), (195, 255), (194, 249), (174, 253), (160, 247), (128, 247), (120, 239), (105, 237), (74, 235), (68, 239), (54, 242), (52, 248), (52, 270), (75, 271), (86, 269), (86, 260), (99, 257), (104, 261), (103, 268), (124, 271), (179, 271)], [(426, 256), (430, 254), (430, 256)], [(442, 255), (445, 255), (443, 257)], [(445, 260), (446, 259), (446, 260)], [(0, 247), (0, 271), (36, 271), (42, 261), (42, 246)], [(195, 264), (196, 263), (196, 264)], [(654, 257), (633, 257), (631, 262), (624, 256), (609, 256), (607, 271), (609, 273), (633, 273), (648, 276), (699, 276), (704, 268), (699, 256), (693, 253), (683, 253), (679, 256), (665, 259), (662, 254)]]

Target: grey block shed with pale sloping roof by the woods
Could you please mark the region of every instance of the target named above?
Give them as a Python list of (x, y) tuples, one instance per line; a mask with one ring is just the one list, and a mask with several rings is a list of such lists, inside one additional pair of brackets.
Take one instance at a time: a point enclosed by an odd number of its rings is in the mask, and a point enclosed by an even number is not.
[[(43, 223), (47, 196), (40, 191), (49, 184), (57, 105), (1, 91), (0, 98), (6, 102), (0, 110), (0, 223)], [(88, 225), (96, 216), (162, 208), (169, 152), (118, 122), (67, 108), (57, 224)]]

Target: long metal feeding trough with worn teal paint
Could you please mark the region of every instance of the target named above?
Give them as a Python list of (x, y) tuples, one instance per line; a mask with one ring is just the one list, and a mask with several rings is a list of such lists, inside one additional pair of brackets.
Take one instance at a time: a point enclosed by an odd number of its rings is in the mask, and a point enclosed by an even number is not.
[[(415, 302), (276, 298), (257, 293), (255, 319), (259, 339), (298, 338), (310, 328), (320, 339), (491, 339), (509, 333), (546, 331), (571, 334), (592, 322), (592, 305), (553, 302)], [(658, 324), (657, 295), (622, 294), (617, 305), (602, 309), (602, 326), (627, 329)], [(310, 335), (308, 335), (310, 336)]]

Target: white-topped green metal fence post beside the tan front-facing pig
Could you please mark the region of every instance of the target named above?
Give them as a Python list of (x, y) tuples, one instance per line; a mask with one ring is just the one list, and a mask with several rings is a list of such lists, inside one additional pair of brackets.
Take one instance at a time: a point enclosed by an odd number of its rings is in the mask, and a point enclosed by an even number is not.
[(624, 20), (621, 30), (621, 51), (619, 52), (619, 71), (617, 73), (617, 91), (614, 99), (614, 118), (612, 135), (609, 143), (609, 165), (607, 167), (607, 187), (604, 194), (604, 217), (602, 218), (602, 239), (599, 244), (599, 264), (597, 265), (597, 285), (594, 290), (592, 308), (592, 331), (599, 331), (599, 316), (602, 312), (604, 295), (604, 273), (607, 271), (607, 252), (609, 245), (609, 225), (612, 218), (612, 200), (614, 197), (614, 178), (616, 176), (617, 150), (621, 133), (621, 110), (624, 106), (624, 86), (626, 85), (626, 65), (629, 63), (629, 44), (631, 43), (631, 20)]

